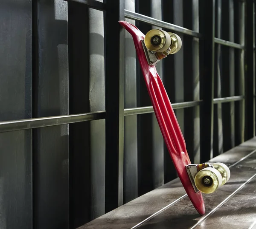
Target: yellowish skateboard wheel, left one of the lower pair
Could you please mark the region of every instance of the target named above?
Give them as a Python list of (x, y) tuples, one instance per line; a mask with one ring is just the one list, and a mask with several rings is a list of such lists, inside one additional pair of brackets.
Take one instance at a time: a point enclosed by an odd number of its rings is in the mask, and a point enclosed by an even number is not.
[(195, 186), (204, 193), (215, 192), (222, 184), (221, 173), (215, 168), (204, 168), (195, 175)]

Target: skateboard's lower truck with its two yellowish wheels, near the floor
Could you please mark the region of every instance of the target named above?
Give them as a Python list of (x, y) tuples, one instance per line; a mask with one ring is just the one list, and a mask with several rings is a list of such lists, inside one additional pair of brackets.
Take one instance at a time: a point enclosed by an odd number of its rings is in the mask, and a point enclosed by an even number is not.
[(185, 166), (195, 192), (212, 193), (230, 178), (230, 170), (223, 163), (188, 164)]

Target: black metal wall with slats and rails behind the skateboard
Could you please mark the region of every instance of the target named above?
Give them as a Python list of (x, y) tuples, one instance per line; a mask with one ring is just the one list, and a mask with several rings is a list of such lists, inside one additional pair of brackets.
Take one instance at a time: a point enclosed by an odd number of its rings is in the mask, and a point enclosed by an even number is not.
[(192, 162), (255, 136), (254, 0), (2, 0), (1, 229), (76, 228), (176, 177), (118, 20), (182, 38), (157, 70)]

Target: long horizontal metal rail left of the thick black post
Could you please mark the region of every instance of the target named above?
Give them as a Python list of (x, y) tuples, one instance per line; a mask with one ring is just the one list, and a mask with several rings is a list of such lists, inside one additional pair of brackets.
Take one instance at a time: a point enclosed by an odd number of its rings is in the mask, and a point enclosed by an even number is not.
[(105, 115), (105, 111), (100, 111), (94, 113), (50, 116), (43, 118), (20, 119), (14, 121), (0, 122), (0, 133), (105, 119)]

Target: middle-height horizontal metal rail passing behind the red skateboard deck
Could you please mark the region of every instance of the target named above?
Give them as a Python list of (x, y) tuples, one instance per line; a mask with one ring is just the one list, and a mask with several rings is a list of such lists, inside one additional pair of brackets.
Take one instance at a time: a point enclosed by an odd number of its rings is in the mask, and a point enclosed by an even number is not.
[[(173, 103), (172, 108), (175, 109), (183, 109), (187, 107), (195, 107), (200, 105), (202, 100), (199, 101), (191, 101), (191, 102), (178, 102)], [(147, 113), (154, 113), (154, 109), (152, 106), (148, 107), (136, 107), (136, 108), (127, 108), (124, 110), (124, 115), (139, 115), (139, 114), (147, 114)]]

